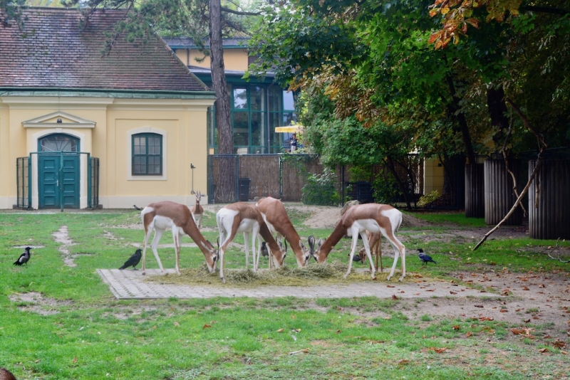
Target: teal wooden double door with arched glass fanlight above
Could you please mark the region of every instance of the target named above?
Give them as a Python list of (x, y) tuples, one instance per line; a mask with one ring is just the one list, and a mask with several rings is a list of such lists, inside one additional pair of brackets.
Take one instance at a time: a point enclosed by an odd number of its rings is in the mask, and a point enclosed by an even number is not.
[(38, 208), (79, 208), (78, 139), (50, 134), (39, 140)]

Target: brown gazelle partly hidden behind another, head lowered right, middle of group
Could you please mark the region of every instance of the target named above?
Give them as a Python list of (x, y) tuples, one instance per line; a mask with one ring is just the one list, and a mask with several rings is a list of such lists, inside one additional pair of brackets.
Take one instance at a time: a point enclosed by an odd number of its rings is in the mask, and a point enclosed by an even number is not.
[(263, 220), (271, 234), (277, 233), (278, 241), (284, 236), (295, 253), (297, 265), (299, 265), (299, 268), (304, 267), (309, 258), (311, 258), (311, 252), (303, 245), (301, 237), (295, 231), (283, 203), (279, 199), (268, 196), (257, 201), (256, 206), (261, 211), (261, 216), (263, 216)]

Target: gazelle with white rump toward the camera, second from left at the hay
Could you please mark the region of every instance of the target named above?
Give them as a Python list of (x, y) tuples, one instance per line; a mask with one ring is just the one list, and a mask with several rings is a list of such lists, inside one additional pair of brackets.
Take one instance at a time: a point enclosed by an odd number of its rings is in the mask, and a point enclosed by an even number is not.
[(244, 233), (246, 267), (249, 264), (249, 234), (252, 236), (254, 270), (257, 270), (257, 265), (259, 264), (255, 253), (255, 242), (258, 234), (264, 238), (271, 250), (272, 254), (269, 255), (269, 260), (273, 260), (276, 268), (283, 265), (286, 250), (282, 248), (281, 242), (278, 244), (271, 236), (271, 231), (269, 231), (269, 228), (263, 221), (261, 212), (254, 204), (237, 202), (224, 206), (216, 213), (216, 222), (219, 229), (219, 241), (221, 242), (219, 246), (219, 278), (224, 283), (226, 282), (224, 279), (224, 253), (237, 233)]

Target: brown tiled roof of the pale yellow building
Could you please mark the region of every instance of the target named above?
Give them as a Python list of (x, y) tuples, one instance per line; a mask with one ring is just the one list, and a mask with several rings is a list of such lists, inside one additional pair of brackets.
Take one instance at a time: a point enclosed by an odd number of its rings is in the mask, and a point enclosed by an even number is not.
[(24, 10), (22, 31), (0, 25), (0, 88), (207, 90), (156, 35), (135, 43), (119, 36), (104, 56), (104, 33), (124, 15), (96, 11), (81, 30), (77, 9)]

